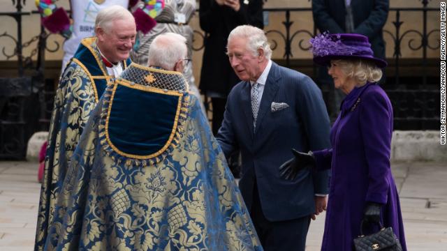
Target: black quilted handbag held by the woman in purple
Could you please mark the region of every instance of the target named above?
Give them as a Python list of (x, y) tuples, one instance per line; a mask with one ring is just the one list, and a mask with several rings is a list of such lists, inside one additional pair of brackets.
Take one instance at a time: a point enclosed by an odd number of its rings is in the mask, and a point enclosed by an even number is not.
[(365, 236), (363, 234), (362, 220), (360, 224), (360, 236), (354, 238), (354, 247), (356, 251), (402, 251), (399, 239), (394, 234), (391, 227), (383, 227), (379, 222), (380, 231)]

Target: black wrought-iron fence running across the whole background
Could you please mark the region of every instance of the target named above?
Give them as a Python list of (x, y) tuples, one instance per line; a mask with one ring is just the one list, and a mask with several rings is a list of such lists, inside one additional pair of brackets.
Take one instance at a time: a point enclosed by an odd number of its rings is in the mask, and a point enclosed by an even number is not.
[[(24, 158), (27, 139), (33, 132), (47, 130), (54, 96), (54, 79), (45, 78), (45, 52), (57, 52), (61, 49), (58, 43), (47, 47), (47, 38), (52, 36), (41, 27), (36, 36), (24, 41), (22, 38), (22, 17), (38, 15), (34, 12), (22, 12), (26, 0), (12, 0), (16, 11), (0, 13), (0, 17), (13, 17), (17, 23), (17, 36), (7, 32), (1, 33), (0, 40), (13, 40), (15, 48), (8, 54), (5, 47), (1, 53), (7, 61), (17, 63), (18, 77), (0, 78), (0, 159)], [(439, 75), (430, 75), (428, 68), (430, 58), (427, 52), (436, 51), (440, 47), (440, 30), (430, 28), (427, 15), (438, 12), (439, 8), (427, 8), (428, 1), (421, 1), (420, 8), (390, 8), (388, 23), (393, 29), (383, 31), (388, 43), (393, 43), (393, 57), (388, 62), (393, 64), (393, 73), (388, 74), (386, 89), (395, 109), (395, 129), (397, 130), (430, 130), (439, 128), (439, 89), (437, 89)], [(305, 41), (316, 35), (314, 27), (300, 26), (291, 18), (292, 13), (312, 13), (311, 8), (266, 8), (265, 13), (284, 14), (284, 29), (265, 29), (265, 33), (272, 42), (273, 50), (284, 50), (284, 66), (291, 67), (298, 60), (293, 56), (294, 50), (307, 51)], [(407, 13), (420, 13), (419, 29), (402, 29), (402, 16)], [(415, 26), (415, 25), (413, 25)], [(390, 25), (388, 25), (390, 27)], [(57, 36), (57, 35), (56, 35)], [(203, 50), (203, 31), (194, 31), (196, 47)], [(430, 43), (431, 41), (431, 43)], [(198, 43), (197, 43), (198, 42)], [(405, 43), (406, 42), (406, 43)], [(298, 46), (293, 47), (294, 43)], [(284, 47), (281, 45), (284, 44)], [(23, 54), (26, 47), (35, 46), (29, 55)], [(416, 62), (420, 69), (417, 76), (406, 78), (402, 76), (402, 50), (422, 52)], [(33, 60), (36, 58), (36, 60)], [(16, 59), (13, 61), (11, 59)], [(312, 61), (307, 62), (309, 68), (316, 68)], [(439, 73), (438, 73), (439, 74)], [(312, 75), (312, 74), (310, 74)], [(315, 75), (314, 75), (315, 76)], [(434, 80), (435, 79), (435, 80)]]

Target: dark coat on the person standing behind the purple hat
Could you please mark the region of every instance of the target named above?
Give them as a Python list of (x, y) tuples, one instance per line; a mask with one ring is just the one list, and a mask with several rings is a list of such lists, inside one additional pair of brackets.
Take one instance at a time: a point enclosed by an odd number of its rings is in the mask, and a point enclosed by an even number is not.
[[(345, 0), (312, 0), (314, 22), (319, 31), (345, 32)], [(389, 0), (351, 0), (354, 31), (365, 35), (371, 43), (374, 56), (385, 59), (385, 41), (382, 29), (388, 17)]]

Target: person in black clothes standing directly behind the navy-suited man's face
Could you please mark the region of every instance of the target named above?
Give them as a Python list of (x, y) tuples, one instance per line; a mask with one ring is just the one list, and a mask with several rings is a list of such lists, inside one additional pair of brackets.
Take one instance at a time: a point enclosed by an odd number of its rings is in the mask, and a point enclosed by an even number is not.
[[(200, 0), (200, 28), (205, 46), (200, 71), (200, 91), (212, 104), (212, 132), (217, 135), (228, 93), (240, 79), (228, 63), (227, 38), (236, 26), (250, 24), (263, 29), (263, 0)], [(231, 172), (240, 177), (240, 153), (228, 158)]]

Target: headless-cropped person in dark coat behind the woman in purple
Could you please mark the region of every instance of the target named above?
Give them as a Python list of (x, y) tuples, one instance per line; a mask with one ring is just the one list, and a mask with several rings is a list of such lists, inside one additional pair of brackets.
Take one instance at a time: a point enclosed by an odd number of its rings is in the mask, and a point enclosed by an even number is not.
[[(315, 26), (321, 33), (358, 33), (367, 36), (374, 56), (385, 59), (382, 30), (389, 6), (389, 0), (312, 0), (312, 14)], [(334, 122), (345, 94), (335, 89), (325, 67), (318, 68), (318, 84), (329, 91), (327, 106), (331, 122)]]

